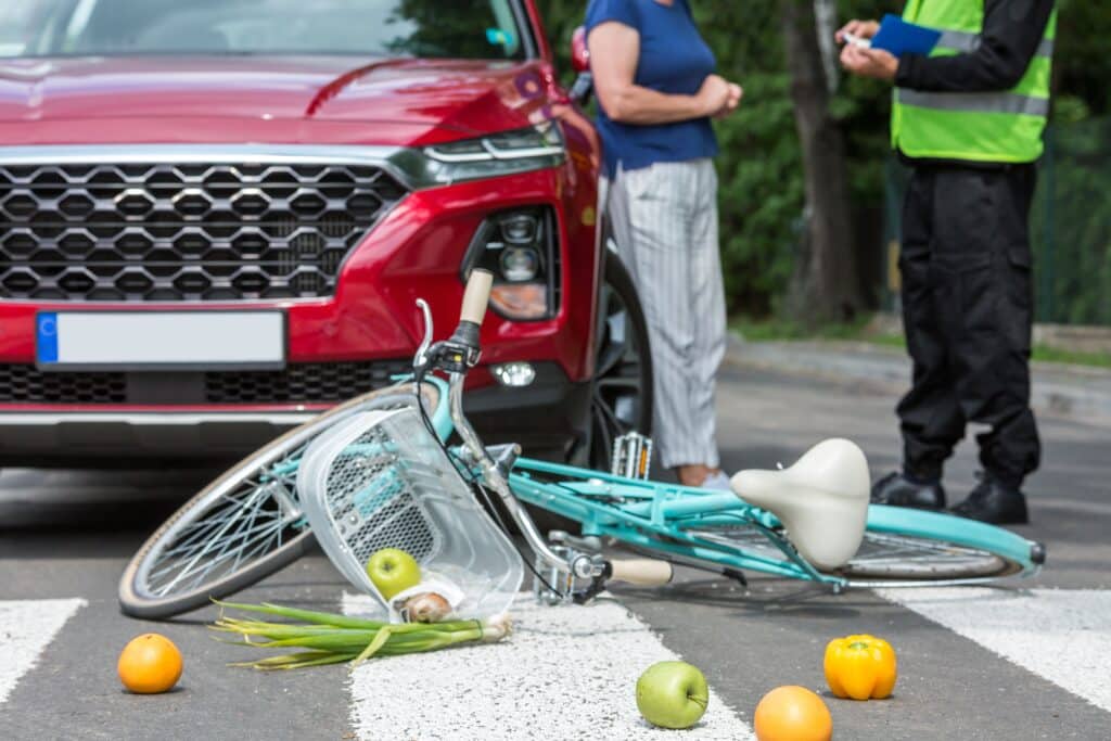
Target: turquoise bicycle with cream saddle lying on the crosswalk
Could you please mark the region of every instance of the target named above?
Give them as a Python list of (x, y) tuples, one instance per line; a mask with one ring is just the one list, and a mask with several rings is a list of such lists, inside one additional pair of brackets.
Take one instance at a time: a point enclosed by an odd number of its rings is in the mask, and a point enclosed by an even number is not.
[[(522, 458), (516, 445), (488, 449), (462, 412), (488, 293), (489, 273), (474, 271), (459, 328), (434, 344), (419, 301), (426, 339), (412, 379), (291, 430), (186, 502), (128, 564), (123, 612), (164, 619), (203, 607), (292, 562), (314, 538), (367, 591), (366, 558), (389, 545), (439, 572), (481, 573), (482, 583), (462, 589), (478, 595), (474, 609), (492, 604), (489, 594), (502, 595), (499, 604), (511, 599), (523, 568), (540, 598), (584, 602), (610, 580), (667, 583), (673, 564), (840, 592), (1029, 577), (1044, 562), (1040, 543), (1001, 528), (869, 505), (867, 462), (845, 440), (824, 441), (785, 470), (742, 471), (735, 492), (641, 478), (649, 448), (637, 435), (615, 450), (627, 475)], [(462, 444), (449, 448), (453, 434)], [(522, 503), (581, 530), (546, 538)], [(531, 558), (508, 537), (499, 510)], [(607, 559), (610, 539), (648, 558)]]

